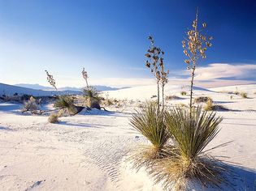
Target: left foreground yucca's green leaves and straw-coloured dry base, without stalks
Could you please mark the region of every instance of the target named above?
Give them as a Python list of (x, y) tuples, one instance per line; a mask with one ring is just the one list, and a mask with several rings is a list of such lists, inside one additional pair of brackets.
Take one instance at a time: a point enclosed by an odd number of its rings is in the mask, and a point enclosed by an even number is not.
[(132, 115), (130, 123), (151, 143), (150, 146), (141, 146), (132, 155), (134, 166), (136, 168), (141, 168), (142, 165), (148, 166), (154, 159), (161, 158), (169, 134), (164, 124), (164, 112), (162, 109), (158, 110), (158, 104), (146, 103), (143, 108)]

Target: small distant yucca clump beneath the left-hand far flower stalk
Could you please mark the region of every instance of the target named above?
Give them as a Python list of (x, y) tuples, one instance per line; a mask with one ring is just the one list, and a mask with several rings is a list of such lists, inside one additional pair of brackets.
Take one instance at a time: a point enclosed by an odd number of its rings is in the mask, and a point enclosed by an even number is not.
[(60, 109), (67, 109), (67, 111), (74, 115), (77, 113), (76, 106), (74, 105), (74, 98), (72, 96), (58, 96), (54, 106)]

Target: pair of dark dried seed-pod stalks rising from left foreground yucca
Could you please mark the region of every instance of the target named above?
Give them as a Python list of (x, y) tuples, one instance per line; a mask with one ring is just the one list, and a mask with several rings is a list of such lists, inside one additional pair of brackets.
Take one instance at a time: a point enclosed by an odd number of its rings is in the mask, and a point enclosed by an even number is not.
[(148, 60), (145, 62), (145, 66), (150, 68), (150, 71), (152, 74), (154, 74), (154, 77), (156, 79), (157, 88), (158, 88), (158, 110), (160, 107), (160, 85), (162, 87), (162, 107), (164, 105), (164, 86), (168, 82), (167, 76), (169, 74), (169, 70), (164, 70), (164, 62), (163, 62), (163, 54), (164, 52), (156, 47), (154, 45), (154, 38), (153, 36), (149, 36), (148, 38), (150, 40), (150, 48), (147, 50), (147, 53), (145, 53), (145, 57), (148, 58)]

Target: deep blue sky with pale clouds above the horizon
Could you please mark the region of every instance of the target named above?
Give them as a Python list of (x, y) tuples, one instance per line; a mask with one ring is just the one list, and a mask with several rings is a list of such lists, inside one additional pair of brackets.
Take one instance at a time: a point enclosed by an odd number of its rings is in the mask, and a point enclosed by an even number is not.
[(83, 67), (92, 84), (151, 83), (149, 34), (166, 53), (170, 78), (186, 79), (181, 40), (197, 6), (214, 37), (197, 80), (254, 83), (256, 2), (246, 0), (0, 1), (0, 83), (47, 85), (49, 70), (60, 87), (81, 87)]

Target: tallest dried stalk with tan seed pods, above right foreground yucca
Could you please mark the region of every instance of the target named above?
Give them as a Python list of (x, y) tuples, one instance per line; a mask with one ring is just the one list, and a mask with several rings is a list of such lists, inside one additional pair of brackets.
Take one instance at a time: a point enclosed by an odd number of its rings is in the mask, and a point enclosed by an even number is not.
[(193, 21), (192, 29), (189, 30), (186, 34), (187, 37), (182, 40), (182, 47), (184, 49), (184, 55), (188, 57), (184, 62), (188, 65), (187, 69), (191, 73), (190, 81), (190, 101), (189, 108), (192, 112), (193, 108), (193, 80), (195, 76), (195, 70), (198, 64), (206, 58), (206, 49), (211, 47), (210, 40), (212, 36), (206, 37), (204, 30), (206, 28), (206, 23), (202, 23), (202, 28), (198, 28), (198, 9), (196, 13), (196, 19)]

